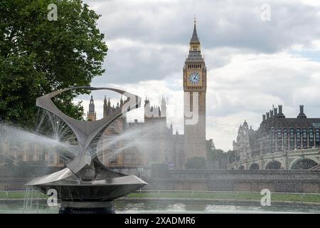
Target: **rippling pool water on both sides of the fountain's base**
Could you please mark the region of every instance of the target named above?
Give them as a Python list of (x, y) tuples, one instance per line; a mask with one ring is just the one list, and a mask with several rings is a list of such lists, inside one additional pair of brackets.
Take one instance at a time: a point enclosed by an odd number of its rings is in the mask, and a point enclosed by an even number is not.
[[(193, 204), (174, 202), (125, 202), (115, 201), (114, 209), (118, 214), (140, 213), (320, 213), (320, 207), (306, 207), (301, 205), (258, 207), (250, 205), (223, 205), (223, 204)], [(57, 214), (58, 207), (48, 207), (46, 200), (41, 199), (36, 207), (24, 213)], [(6, 200), (0, 202), (0, 214), (23, 213), (23, 199)]]

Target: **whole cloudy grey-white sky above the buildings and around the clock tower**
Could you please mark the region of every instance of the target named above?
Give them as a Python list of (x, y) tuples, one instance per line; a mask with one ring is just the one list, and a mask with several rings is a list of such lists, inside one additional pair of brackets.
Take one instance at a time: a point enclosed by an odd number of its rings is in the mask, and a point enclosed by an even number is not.
[[(103, 76), (92, 86), (116, 87), (159, 105), (169, 103), (168, 124), (183, 133), (182, 67), (196, 14), (208, 71), (207, 138), (232, 148), (239, 125), (255, 130), (272, 104), (297, 116), (305, 105), (320, 116), (320, 1), (85, 0), (101, 14), (98, 26), (109, 47)], [(270, 21), (262, 20), (270, 6)], [(105, 92), (96, 92), (102, 117)], [(116, 103), (114, 94), (112, 102)], [(87, 108), (88, 97), (84, 104)], [(143, 110), (128, 117), (143, 120)]]

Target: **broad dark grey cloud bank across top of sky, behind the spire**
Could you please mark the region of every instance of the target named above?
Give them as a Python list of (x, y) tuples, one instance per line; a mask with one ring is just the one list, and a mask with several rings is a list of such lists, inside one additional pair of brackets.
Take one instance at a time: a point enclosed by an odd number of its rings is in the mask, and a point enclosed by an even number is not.
[[(90, 4), (91, 1), (87, 0)], [(299, 1), (268, 1), (272, 20), (261, 21), (265, 1), (105, 1), (98, 4), (107, 39), (185, 44), (193, 15), (203, 47), (237, 47), (272, 53), (320, 34), (319, 8)], [(91, 2), (95, 6), (97, 1)]]

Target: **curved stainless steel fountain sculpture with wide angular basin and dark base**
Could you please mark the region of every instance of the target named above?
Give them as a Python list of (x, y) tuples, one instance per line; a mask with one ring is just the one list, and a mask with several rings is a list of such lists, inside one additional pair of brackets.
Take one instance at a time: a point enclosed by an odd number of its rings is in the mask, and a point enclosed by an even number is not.
[[(124, 107), (97, 121), (75, 120), (62, 113), (52, 98), (73, 89), (112, 90), (127, 96)], [(114, 213), (113, 200), (140, 189), (146, 182), (134, 175), (114, 172), (100, 162), (97, 157), (97, 141), (104, 130), (120, 115), (139, 108), (141, 98), (114, 88), (93, 88), (87, 86), (65, 88), (48, 93), (36, 100), (36, 105), (62, 119), (78, 139), (78, 152), (68, 162), (67, 167), (50, 175), (38, 177), (26, 185), (43, 193), (55, 190), (60, 199), (60, 214)], [(93, 148), (93, 149), (92, 149)]]

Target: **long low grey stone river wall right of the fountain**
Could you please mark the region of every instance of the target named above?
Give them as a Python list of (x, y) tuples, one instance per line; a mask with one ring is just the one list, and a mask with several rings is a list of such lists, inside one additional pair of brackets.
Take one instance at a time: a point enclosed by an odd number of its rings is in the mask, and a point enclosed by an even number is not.
[(169, 170), (169, 177), (146, 177), (145, 190), (320, 192), (319, 170)]

